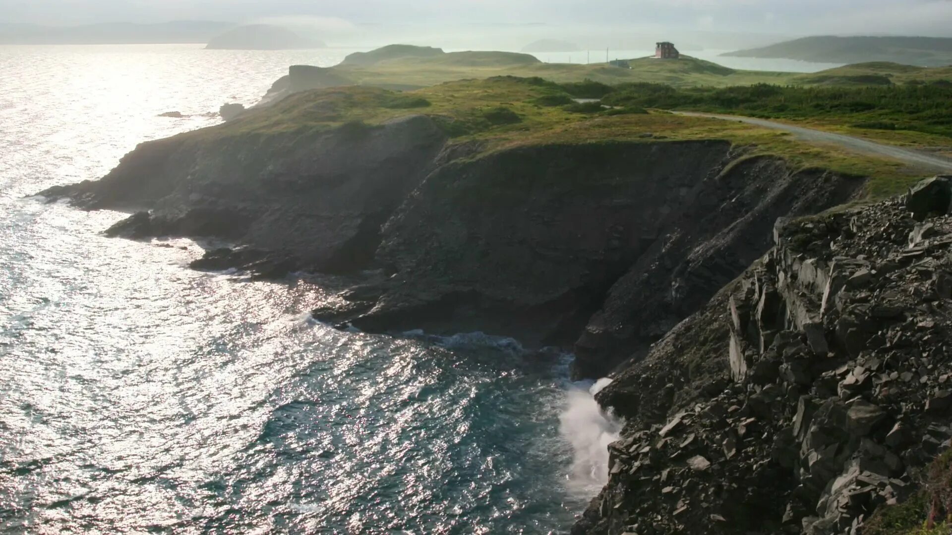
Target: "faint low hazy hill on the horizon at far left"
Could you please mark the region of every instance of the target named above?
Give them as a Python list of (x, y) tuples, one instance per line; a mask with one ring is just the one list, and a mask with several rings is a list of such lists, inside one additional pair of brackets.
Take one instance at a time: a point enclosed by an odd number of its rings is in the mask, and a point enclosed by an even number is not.
[(233, 23), (173, 21), (158, 24), (109, 23), (86, 26), (0, 24), (0, 45), (142, 45), (208, 43)]

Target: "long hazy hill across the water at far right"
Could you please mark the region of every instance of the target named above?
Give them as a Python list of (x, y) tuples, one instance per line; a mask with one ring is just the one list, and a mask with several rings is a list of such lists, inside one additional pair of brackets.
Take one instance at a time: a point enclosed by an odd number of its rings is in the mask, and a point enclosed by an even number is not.
[(952, 38), (946, 37), (803, 37), (759, 49), (722, 55), (785, 58), (822, 63), (887, 61), (921, 67), (952, 65)]

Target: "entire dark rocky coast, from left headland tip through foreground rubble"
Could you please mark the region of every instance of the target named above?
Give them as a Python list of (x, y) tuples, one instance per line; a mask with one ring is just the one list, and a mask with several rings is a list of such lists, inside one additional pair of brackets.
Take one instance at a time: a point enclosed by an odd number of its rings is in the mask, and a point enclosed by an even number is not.
[(804, 218), (863, 179), (718, 140), (485, 151), (413, 115), (189, 132), (42, 194), (232, 244), (194, 268), (345, 274), (314, 311), (340, 327), (572, 347), (626, 421), (575, 533), (819, 534), (902, 501), (948, 438), (952, 222), (910, 215), (947, 188)]

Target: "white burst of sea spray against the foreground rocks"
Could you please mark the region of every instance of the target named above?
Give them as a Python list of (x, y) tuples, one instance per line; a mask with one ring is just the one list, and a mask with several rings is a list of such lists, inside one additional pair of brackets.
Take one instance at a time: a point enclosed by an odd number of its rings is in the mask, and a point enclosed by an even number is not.
[(608, 445), (618, 440), (622, 422), (602, 410), (595, 394), (609, 383), (611, 379), (574, 383), (566, 393), (559, 431), (572, 446), (573, 485), (600, 487), (608, 480)]

